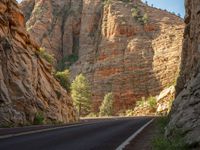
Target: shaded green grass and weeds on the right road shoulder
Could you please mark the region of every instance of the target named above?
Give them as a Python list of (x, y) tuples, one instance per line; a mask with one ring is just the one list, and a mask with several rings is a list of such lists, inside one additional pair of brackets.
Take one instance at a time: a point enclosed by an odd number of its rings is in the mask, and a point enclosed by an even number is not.
[(168, 117), (157, 119), (156, 126), (159, 129), (159, 134), (152, 141), (153, 150), (189, 150), (180, 130), (174, 129), (171, 138), (164, 136), (165, 127), (168, 122)]

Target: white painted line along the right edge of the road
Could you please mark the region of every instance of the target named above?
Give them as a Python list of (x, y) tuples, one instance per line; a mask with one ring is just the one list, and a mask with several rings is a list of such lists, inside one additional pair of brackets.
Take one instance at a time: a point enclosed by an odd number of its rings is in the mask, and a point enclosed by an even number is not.
[(127, 140), (125, 140), (121, 145), (119, 145), (115, 150), (123, 150), (139, 133), (141, 133), (149, 124), (151, 124), (154, 119), (151, 119), (145, 125), (143, 125), (139, 130), (133, 133)]

